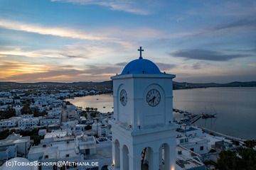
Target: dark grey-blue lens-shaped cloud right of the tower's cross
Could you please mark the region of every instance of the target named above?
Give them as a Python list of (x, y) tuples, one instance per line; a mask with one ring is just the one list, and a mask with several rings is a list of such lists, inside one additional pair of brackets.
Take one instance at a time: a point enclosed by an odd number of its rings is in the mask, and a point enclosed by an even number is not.
[(228, 61), (235, 58), (250, 57), (249, 55), (226, 55), (222, 52), (211, 51), (211, 50), (179, 50), (176, 52), (169, 53), (170, 56), (183, 57), (188, 60), (210, 60), (210, 61)]

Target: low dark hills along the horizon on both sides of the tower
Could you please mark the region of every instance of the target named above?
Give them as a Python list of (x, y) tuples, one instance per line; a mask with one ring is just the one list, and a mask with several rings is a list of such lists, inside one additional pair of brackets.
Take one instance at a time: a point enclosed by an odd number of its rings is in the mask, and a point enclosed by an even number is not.
[[(98, 91), (112, 89), (112, 81), (92, 82), (80, 81), (73, 83), (60, 82), (37, 82), (37, 83), (16, 83), (9, 81), (0, 81), (0, 91), (9, 91), (12, 89), (45, 89), (45, 90), (91, 90)], [(256, 87), (256, 81), (233, 81), (226, 84), (218, 83), (188, 83), (174, 81), (174, 90), (176, 89), (195, 89), (208, 87)]]

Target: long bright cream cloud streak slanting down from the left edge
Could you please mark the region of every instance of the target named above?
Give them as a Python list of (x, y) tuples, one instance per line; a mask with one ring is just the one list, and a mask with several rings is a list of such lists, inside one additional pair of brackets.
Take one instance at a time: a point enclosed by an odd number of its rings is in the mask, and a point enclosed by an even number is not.
[(97, 36), (91, 33), (85, 33), (80, 30), (70, 28), (57, 28), (48, 26), (36, 26), (31, 23), (21, 23), (17, 21), (9, 21), (0, 19), (0, 27), (9, 30), (21, 30), (28, 33), (38, 33), (42, 35), (53, 35), (64, 38), (77, 38), (81, 40), (105, 40), (103, 36)]

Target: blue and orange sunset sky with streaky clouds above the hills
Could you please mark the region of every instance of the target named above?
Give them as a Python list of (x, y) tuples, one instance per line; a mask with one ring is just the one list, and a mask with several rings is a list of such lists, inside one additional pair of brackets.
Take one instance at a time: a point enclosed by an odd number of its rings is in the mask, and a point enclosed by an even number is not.
[(0, 0), (0, 81), (107, 81), (139, 46), (174, 81), (255, 81), (256, 1)]

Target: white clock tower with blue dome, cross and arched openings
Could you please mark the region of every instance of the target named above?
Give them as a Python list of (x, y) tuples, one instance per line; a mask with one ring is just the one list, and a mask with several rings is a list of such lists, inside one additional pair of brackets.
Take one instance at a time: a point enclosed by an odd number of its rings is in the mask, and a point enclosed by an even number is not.
[(113, 80), (112, 167), (172, 170), (176, 134), (173, 123), (173, 74), (140, 57)]

